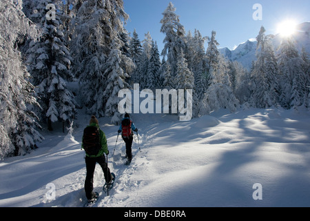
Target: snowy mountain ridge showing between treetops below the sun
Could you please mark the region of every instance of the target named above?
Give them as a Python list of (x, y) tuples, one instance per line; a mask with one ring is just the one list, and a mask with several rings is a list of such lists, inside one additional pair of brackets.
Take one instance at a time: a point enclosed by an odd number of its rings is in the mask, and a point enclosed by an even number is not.
[[(294, 37), (296, 39), (298, 50), (301, 51), (302, 47), (304, 47), (310, 54), (310, 22), (300, 23), (297, 30), (298, 32), (296, 32)], [(282, 38), (280, 35), (276, 35), (276, 37), (273, 39), (273, 48), (275, 52), (280, 46), (281, 41)], [(249, 70), (251, 68), (252, 61), (256, 61), (256, 46), (257, 41), (249, 39), (242, 44), (239, 44), (239, 46), (234, 50), (230, 50), (229, 48), (225, 47), (219, 48), (219, 51), (227, 59), (231, 61), (238, 61), (240, 64), (242, 64), (242, 66)]]

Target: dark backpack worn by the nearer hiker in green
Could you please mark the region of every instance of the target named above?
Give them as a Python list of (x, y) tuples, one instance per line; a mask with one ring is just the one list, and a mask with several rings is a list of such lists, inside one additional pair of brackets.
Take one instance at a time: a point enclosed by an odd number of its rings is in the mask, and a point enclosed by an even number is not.
[(88, 155), (97, 155), (101, 149), (100, 131), (96, 126), (87, 126), (83, 134), (83, 148)]

